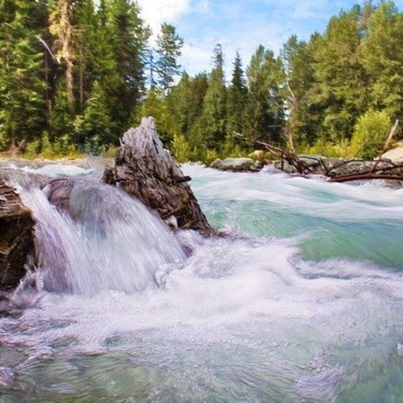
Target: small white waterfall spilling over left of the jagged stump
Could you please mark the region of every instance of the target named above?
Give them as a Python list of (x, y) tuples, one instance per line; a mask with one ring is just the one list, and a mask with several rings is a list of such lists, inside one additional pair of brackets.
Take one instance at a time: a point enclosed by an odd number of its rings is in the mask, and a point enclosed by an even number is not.
[(141, 291), (157, 270), (183, 260), (178, 241), (141, 202), (109, 185), (69, 181), (66, 211), (49, 202), (46, 189), (20, 189), (37, 221), (43, 289), (85, 295)]

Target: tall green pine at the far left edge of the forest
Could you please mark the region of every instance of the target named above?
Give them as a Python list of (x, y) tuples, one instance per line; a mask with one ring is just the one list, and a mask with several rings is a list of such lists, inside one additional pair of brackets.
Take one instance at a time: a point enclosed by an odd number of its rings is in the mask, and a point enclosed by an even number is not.
[(0, 1), (0, 147), (38, 135), (44, 124), (42, 54), (33, 4)]

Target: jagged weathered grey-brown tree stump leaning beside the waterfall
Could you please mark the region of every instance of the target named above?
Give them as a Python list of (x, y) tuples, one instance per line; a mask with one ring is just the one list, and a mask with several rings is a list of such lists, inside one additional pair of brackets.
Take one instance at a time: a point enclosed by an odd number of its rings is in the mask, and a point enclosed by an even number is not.
[(158, 137), (152, 117), (129, 129), (121, 139), (115, 166), (106, 168), (105, 183), (122, 188), (156, 211), (170, 226), (211, 233), (189, 184)]

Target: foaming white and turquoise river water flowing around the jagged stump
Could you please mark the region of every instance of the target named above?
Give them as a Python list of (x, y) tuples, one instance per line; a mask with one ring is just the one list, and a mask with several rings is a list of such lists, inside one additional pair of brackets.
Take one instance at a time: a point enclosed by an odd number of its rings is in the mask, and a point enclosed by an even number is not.
[(0, 401), (401, 401), (403, 190), (183, 169), (229, 237), (85, 178), (74, 220), (21, 189), (43, 290), (0, 318)]

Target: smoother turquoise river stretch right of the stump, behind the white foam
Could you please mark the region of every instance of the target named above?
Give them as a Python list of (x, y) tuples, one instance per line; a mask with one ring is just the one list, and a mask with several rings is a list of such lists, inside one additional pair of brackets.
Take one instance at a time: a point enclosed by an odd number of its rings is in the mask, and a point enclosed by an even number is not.
[(403, 270), (402, 190), (281, 173), (207, 172), (187, 170), (215, 228), (251, 238), (299, 238), (309, 260), (349, 258)]

